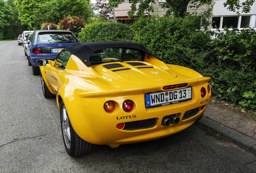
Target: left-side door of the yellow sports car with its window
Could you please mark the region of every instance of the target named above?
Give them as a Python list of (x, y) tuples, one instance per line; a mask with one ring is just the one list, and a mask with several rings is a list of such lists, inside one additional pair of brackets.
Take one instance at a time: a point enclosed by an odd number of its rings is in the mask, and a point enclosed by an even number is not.
[(56, 95), (58, 93), (58, 81), (60, 81), (60, 72), (65, 70), (70, 56), (70, 52), (62, 50), (62, 52), (60, 52), (60, 54), (57, 56), (54, 66), (51, 66), (51, 69), (45, 74), (50, 87), (53, 89)]

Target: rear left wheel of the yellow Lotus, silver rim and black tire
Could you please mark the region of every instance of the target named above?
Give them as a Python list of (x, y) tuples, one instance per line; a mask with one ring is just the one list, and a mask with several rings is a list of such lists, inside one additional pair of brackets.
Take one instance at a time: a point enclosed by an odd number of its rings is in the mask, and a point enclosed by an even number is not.
[(67, 153), (72, 157), (89, 153), (93, 145), (84, 141), (76, 134), (69, 121), (68, 113), (63, 101), (60, 104), (60, 122), (62, 137)]

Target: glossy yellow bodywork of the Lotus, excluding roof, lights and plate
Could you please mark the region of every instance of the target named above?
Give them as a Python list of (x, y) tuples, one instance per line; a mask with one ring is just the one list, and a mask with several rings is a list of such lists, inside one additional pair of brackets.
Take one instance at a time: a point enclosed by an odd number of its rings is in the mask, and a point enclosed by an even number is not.
[[(48, 89), (56, 95), (59, 108), (63, 100), (72, 127), (79, 137), (92, 144), (118, 147), (120, 144), (148, 141), (178, 133), (190, 127), (209, 104), (209, 77), (186, 67), (165, 64), (152, 55), (147, 57), (146, 54), (143, 63), (154, 68), (138, 69), (126, 62), (111, 62), (122, 64), (122, 68), (131, 68), (128, 71), (113, 72), (113, 69), (103, 67), (111, 63), (87, 67), (72, 55), (65, 70), (54, 67), (53, 61), (49, 61), (46, 66), (40, 66), (40, 70)], [(192, 87), (192, 100), (145, 108), (145, 93), (164, 91), (163, 86), (181, 83), (188, 83)], [(206, 89), (204, 98), (200, 95), (202, 87)], [(135, 108), (130, 113), (122, 109), (122, 104), (127, 99), (135, 103)], [(116, 109), (113, 113), (104, 111), (103, 105), (106, 101), (115, 102)], [(182, 120), (186, 111), (202, 105), (206, 106), (203, 111)], [(177, 114), (180, 123), (161, 125), (163, 117), (171, 114)], [(149, 129), (128, 131), (116, 127), (118, 123), (151, 118), (157, 118), (157, 122)]]

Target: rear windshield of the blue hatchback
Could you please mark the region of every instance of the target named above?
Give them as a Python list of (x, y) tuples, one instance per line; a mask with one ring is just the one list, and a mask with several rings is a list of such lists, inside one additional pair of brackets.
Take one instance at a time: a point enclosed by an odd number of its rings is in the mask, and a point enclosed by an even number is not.
[(76, 38), (70, 33), (67, 32), (41, 32), (38, 35), (38, 43), (74, 43), (78, 42)]

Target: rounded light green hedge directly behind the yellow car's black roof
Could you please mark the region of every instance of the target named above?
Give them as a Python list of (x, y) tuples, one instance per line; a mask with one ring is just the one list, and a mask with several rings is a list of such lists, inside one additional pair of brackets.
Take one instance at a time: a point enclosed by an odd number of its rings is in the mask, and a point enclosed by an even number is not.
[(94, 22), (87, 24), (78, 35), (81, 42), (131, 41), (133, 32), (128, 25), (116, 22)]

